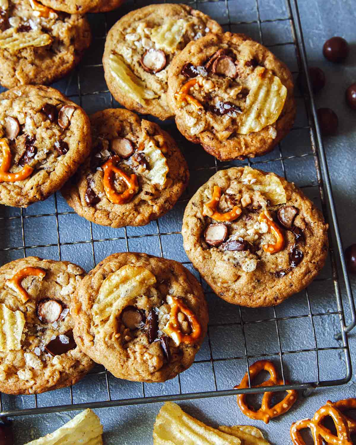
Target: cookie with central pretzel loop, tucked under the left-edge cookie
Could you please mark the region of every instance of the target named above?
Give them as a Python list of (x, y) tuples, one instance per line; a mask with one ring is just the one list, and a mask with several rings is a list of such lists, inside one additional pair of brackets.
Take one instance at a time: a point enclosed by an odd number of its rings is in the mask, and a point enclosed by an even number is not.
[(90, 121), (93, 149), (62, 189), (68, 204), (111, 227), (142, 226), (170, 210), (189, 170), (169, 134), (125, 109), (99, 111)]

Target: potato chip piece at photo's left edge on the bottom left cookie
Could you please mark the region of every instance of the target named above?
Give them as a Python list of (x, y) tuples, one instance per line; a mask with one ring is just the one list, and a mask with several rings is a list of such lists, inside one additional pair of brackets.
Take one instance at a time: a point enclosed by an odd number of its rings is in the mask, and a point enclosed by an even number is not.
[(0, 304), (0, 351), (18, 351), (21, 349), (21, 336), (25, 317), (21, 311), (10, 311), (4, 303)]

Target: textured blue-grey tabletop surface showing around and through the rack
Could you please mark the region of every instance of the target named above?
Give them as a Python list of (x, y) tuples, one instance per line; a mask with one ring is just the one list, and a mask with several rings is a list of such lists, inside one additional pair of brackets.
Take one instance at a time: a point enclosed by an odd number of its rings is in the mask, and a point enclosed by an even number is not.
[[(336, 209), (338, 212), (340, 231), (345, 247), (355, 242), (355, 205), (353, 193), (356, 186), (355, 168), (353, 155), (356, 146), (355, 121), (356, 112), (348, 109), (344, 102), (345, 88), (356, 81), (356, 40), (355, 40), (355, 6), (351, 0), (322, 1), (322, 0), (299, 0), (299, 9), (303, 25), (305, 44), (310, 66), (320, 66), (327, 76), (327, 86), (317, 97), (318, 106), (333, 108), (339, 116), (338, 135), (324, 138), (324, 144), (328, 155), (328, 165), (332, 178)], [(227, 15), (226, 4), (229, 6)], [(144, 2), (136, 2), (135, 5), (127, 2), (120, 12), (107, 14), (109, 27), (122, 14), (134, 7), (143, 6)], [(193, 4), (194, 6), (194, 4)], [(198, 8), (209, 13), (220, 23), (231, 22), (255, 22), (250, 24), (232, 25), (231, 30), (246, 32), (256, 40), (260, 40), (259, 27), (256, 23), (257, 11), (255, 0), (228, 0), (228, 2), (206, 2), (199, 3)], [(286, 18), (287, 8), (284, 0), (259, 0), (259, 12), (261, 20), (274, 20)], [(81, 84), (82, 105), (88, 113), (111, 106), (111, 99), (105, 93), (105, 85), (100, 64), (104, 39), (100, 38), (105, 33), (104, 16), (90, 16), (93, 25), (93, 34), (97, 38), (93, 42), (92, 49), (83, 61), (83, 65), (92, 65), (90, 68), (81, 68), (79, 78)], [(228, 29), (228, 27), (225, 27)], [(291, 27), (288, 20), (278, 22), (263, 21), (261, 25), (263, 43), (275, 45), (283, 42), (291, 42)], [(322, 56), (322, 45), (331, 36), (340, 35), (351, 44), (351, 53), (348, 61), (342, 65), (333, 65)], [(287, 63), (291, 71), (298, 70), (295, 51), (292, 44), (274, 46), (272, 51)], [(82, 65), (82, 66), (83, 66)], [(73, 97), (74, 101), (80, 102), (77, 86), (77, 74), (69, 77), (55, 86)], [(90, 95), (94, 91), (102, 91), (99, 95)], [(297, 95), (299, 95), (297, 91)], [(257, 166), (264, 170), (273, 170), (282, 174), (282, 164), (272, 161), (283, 156), (300, 155), (311, 153), (308, 129), (303, 101), (299, 98), (298, 117), (296, 127), (281, 144), (280, 151), (274, 150), (271, 154), (260, 158)], [(113, 105), (117, 105), (114, 103)], [(165, 123), (164, 127), (174, 132), (171, 123)], [(175, 133), (176, 134), (176, 133)], [(176, 134), (177, 139), (179, 135)], [(213, 158), (202, 152), (198, 146), (192, 146), (180, 139), (179, 142), (192, 170), (192, 178), (189, 190), (185, 197), (190, 196), (196, 188), (206, 181), (215, 166)], [(198, 164), (197, 164), (198, 159)], [(271, 162), (268, 162), (271, 160)], [(284, 161), (287, 179), (294, 181), (299, 186), (313, 185), (316, 182), (315, 168), (312, 156), (295, 158)], [(207, 167), (206, 170), (196, 171), (197, 168)], [(209, 169), (210, 167), (210, 169)], [(306, 187), (305, 193), (318, 201), (318, 190), (316, 187)], [(187, 261), (182, 249), (181, 235), (161, 235), (160, 233), (179, 232), (181, 227), (182, 213), (186, 201), (178, 205), (157, 223), (151, 223), (146, 227), (124, 229), (107, 229), (90, 224), (75, 214), (66, 213), (71, 209), (66, 205), (60, 194), (51, 197), (45, 202), (30, 206), (23, 210), (24, 244), (22, 239), (21, 214), (18, 209), (0, 207), (0, 216), (11, 217), (5, 219), (0, 225), (0, 248), (19, 247), (17, 250), (0, 251), (0, 261), (5, 263), (11, 259), (20, 258), (24, 254), (21, 249), (23, 245), (47, 246), (27, 248), (26, 255), (40, 255), (46, 258), (59, 259), (57, 243), (61, 243), (62, 259), (69, 259), (81, 264), (87, 270), (93, 267), (92, 243), (93, 239), (115, 238), (113, 241), (100, 241), (93, 243), (96, 262), (115, 251), (126, 250), (145, 251), (154, 255), (164, 255), (180, 261)], [(60, 237), (57, 235), (57, 220)], [(35, 214), (49, 214), (39, 218), (27, 218)], [(73, 230), (74, 229), (74, 230)], [(92, 231), (92, 232), (91, 232)], [(153, 235), (150, 238), (140, 235)], [(129, 237), (126, 245), (126, 235)], [(132, 237), (132, 238), (131, 238)], [(69, 244), (69, 243), (76, 244)], [(67, 244), (68, 243), (68, 244)], [(162, 250), (161, 250), (162, 246)], [(321, 274), (322, 278), (330, 278), (330, 265), (327, 264)], [(352, 279), (355, 289), (355, 279)], [(308, 289), (313, 312), (330, 312), (336, 309), (335, 297), (332, 285), (329, 282), (314, 282)], [(210, 293), (207, 294), (210, 304), (210, 323), (216, 326), (210, 327), (210, 340), (212, 355), (215, 358), (232, 356), (243, 356), (242, 336), (239, 325), (229, 328), (219, 326), (221, 323), (238, 322), (239, 309), (223, 303)], [(346, 306), (346, 317), (348, 319), (348, 308)], [(308, 314), (307, 299), (304, 292), (288, 299), (279, 307), (276, 307), (277, 316)], [(272, 309), (242, 310), (243, 320), (262, 320), (273, 318)], [(321, 316), (314, 319), (318, 347), (337, 346), (333, 335), (340, 328), (337, 316)], [(279, 322), (282, 349), (299, 350), (315, 346), (312, 337), (312, 327), (309, 318), (287, 320)], [(275, 352), (278, 350), (278, 342), (275, 333), (275, 322), (245, 325), (247, 336), (247, 350), (250, 354), (261, 354)], [(256, 340), (258, 339), (258, 340)], [(355, 362), (356, 340), (355, 333), (350, 335), (350, 344)], [(207, 342), (197, 356), (197, 360), (209, 360), (210, 351)], [(293, 381), (316, 380), (316, 356), (315, 352), (306, 352), (283, 356), (286, 377)], [(320, 379), (337, 379), (344, 376), (345, 366), (343, 356), (336, 352), (319, 353)], [(252, 362), (253, 360), (251, 360)], [(251, 363), (250, 362), (250, 363)], [(275, 363), (279, 359), (275, 357)], [(216, 374), (216, 385), (218, 389), (231, 388), (238, 383), (246, 371), (245, 360), (217, 361), (214, 363)], [(213, 391), (215, 389), (213, 373), (210, 363), (194, 364), (189, 370), (182, 373), (180, 377), (182, 392)], [(109, 376), (111, 397), (129, 398), (142, 396), (142, 386), (138, 383), (117, 380)], [(146, 396), (161, 394), (175, 394), (179, 391), (178, 379), (165, 384), (145, 385)], [(187, 412), (195, 415), (209, 425), (236, 425), (251, 424), (260, 427), (267, 433), (268, 439), (274, 444), (288, 444), (289, 428), (293, 421), (310, 417), (327, 399), (337, 400), (344, 397), (355, 396), (355, 376), (352, 381), (344, 386), (316, 390), (311, 396), (304, 399), (300, 397), (294, 407), (282, 417), (272, 420), (269, 425), (263, 422), (252, 421), (240, 413), (235, 397), (221, 397), (205, 400), (192, 400), (180, 402)], [(69, 389), (62, 389), (51, 393), (41, 394), (37, 397), (39, 406), (60, 405), (69, 403)], [(73, 402), (80, 403), (94, 400), (106, 400), (106, 382), (102, 375), (88, 376), (82, 382), (73, 387)], [(9, 397), (3, 396), (4, 409), (30, 408), (34, 406), (32, 396)], [(148, 445), (152, 443), (152, 427), (154, 418), (160, 408), (160, 404), (118, 407), (114, 409), (100, 409), (97, 414), (101, 417), (105, 431), (106, 444), (122, 445)], [(14, 422), (16, 430), (16, 444), (24, 444), (40, 435), (44, 435), (63, 425), (75, 413), (58, 413), (41, 416), (17, 417)]]

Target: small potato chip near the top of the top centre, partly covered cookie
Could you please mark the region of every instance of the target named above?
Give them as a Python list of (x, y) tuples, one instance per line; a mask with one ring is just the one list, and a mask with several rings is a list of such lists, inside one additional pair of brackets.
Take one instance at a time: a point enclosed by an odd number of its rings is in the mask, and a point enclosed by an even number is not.
[(184, 19), (174, 20), (167, 18), (161, 26), (152, 29), (151, 40), (158, 49), (164, 49), (168, 53), (174, 53), (186, 32), (188, 22)]

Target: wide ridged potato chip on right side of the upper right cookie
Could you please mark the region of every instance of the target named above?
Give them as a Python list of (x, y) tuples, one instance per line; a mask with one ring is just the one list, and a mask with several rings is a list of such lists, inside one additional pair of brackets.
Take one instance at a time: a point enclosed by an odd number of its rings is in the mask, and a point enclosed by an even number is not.
[(249, 134), (273, 124), (282, 113), (287, 88), (271, 70), (258, 66), (247, 79), (250, 92), (237, 132)]

